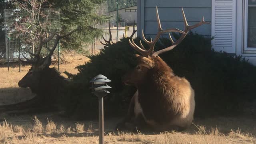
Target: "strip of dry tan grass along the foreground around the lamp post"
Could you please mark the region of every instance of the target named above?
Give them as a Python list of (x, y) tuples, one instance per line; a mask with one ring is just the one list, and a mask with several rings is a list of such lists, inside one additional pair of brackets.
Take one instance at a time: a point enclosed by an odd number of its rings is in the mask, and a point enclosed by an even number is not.
[[(39, 115), (38, 117), (48, 117), (49, 115)], [(10, 121), (17, 123), (24, 121), (29, 116), (9, 117)], [(17, 120), (19, 118), (19, 120)], [(54, 119), (58, 117), (54, 116)], [(222, 119), (219, 119), (221, 121)], [(28, 121), (28, 120), (27, 120)], [(97, 144), (98, 131), (97, 123), (92, 124), (90, 132), (84, 129), (84, 124), (90, 122), (72, 122), (63, 121), (60, 127), (56, 123), (46, 118), (38, 119), (34, 117), (34, 122), (27, 122), (22, 125), (13, 126), (7, 121), (2, 122), (0, 126), (0, 142), (14, 144)], [(115, 120), (106, 120), (106, 125), (114, 126)], [(44, 124), (45, 123), (45, 124)], [(72, 124), (73, 123), (73, 124)], [(108, 127), (107, 126), (107, 127)], [(18, 130), (17, 130), (18, 127)], [(65, 128), (66, 127), (66, 128)], [(69, 127), (69, 128), (67, 128)], [(106, 144), (255, 144), (256, 138), (249, 132), (243, 132), (241, 129), (229, 130), (228, 133), (222, 133), (218, 128), (207, 129), (203, 125), (192, 126), (194, 132), (162, 132), (154, 133), (130, 133), (113, 131), (104, 136)], [(36, 128), (36, 129), (35, 129)], [(65, 129), (67, 129), (65, 131)]]

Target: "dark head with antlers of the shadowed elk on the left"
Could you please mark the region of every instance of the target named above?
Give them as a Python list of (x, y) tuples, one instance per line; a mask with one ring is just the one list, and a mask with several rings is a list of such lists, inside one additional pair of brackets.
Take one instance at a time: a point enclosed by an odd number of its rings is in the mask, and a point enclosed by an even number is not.
[[(38, 89), (40, 79), (42, 79), (42, 74), (45, 72), (45, 70), (49, 69), (49, 66), (51, 64), (51, 56), (52, 56), (54, 50), (56, 49), (56, 46), (58, 45), (59, 40), (61, 38), (69, 36), (70, 34), (72, 34), (75, 31), (76, 30), (73, 30), (63, 36), (56, 35), (57, 32), (55, 31), (46, 40), (43, 40), (42, 36), (40, 35), (39, 36), (39, 44), (36, 49), (37, 52), (36, 53), (28, 52), (31, 56), (34, 57), (33, 60), (30, 60), (23, 55), (23, 57), (26, 59), (26, 61), (23, 61), (23, 62), (32, 64), (32, 66), (29, 69), (28, 73), (18, 82), (18, 86), (23, 87), (23, 88), (30, 87), (31, 89)], [(40, 57), (40, 52), (42, 50), (43, 45), (46, 44), (47, 42), (49, 42), (55, 35), (56, 35), (56, 39), (54, 42), (54, 46), (52, 47), (52, 49), (50, 49), (50, 48), (48, 49), (49, 54), (47, 56), (45, 56), (44, 58)]]

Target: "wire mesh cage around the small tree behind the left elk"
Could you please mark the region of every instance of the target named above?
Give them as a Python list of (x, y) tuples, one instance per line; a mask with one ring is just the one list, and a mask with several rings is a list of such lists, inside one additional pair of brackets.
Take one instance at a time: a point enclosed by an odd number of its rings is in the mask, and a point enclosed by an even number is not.
[[(42, 24), (41, 29), (44, 32), (54, 32), (60, 30), (60, 9), (59, 8), (41, 8), (42, 15), (38, 15), (38, 21)], [(4, 10), (4, 30), (5, 30), (5, 42), (6, 42), (6, 58), (8, 60), (8, 70), (10, 61), (19, 61), (22, 59), (22, 54), (28, 58), (31, 56), (29, 52), (34, 52), (34, 45), (36, 42), (26, 43), (25, 39), (30, 37), (30, 33), (22, 34), (17, 30), (17, 26), (28, 25), (26, 22), (28, 13), (22, 9), (5, 9)], [(33, 34), (36, 32), (32, 32)], [(48, 36), (48, 34), (47, 34)], [(54, 39), (45, 44), (42, 50), (42, 56), (46, 55), (47, 48), (53, 46)], [(58, 57), (60, 52), (60, 46), (58, 46)], [(59, 61), (59, 58), (58, 58)], [(58, 62), (59, 64), (59, 62)], [(59, 67), (59, 66), (58, 66)]]

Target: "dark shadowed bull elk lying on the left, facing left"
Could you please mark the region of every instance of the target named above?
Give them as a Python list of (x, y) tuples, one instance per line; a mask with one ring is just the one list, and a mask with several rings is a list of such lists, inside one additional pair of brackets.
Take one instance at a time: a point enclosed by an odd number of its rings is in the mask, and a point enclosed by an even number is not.
[[(26, 58), (26, 61), (22, 61), (27, 64), (32, 64), (28, 73), (18, 82), (18, 86), (22, 88), (29, 87), (33, 93), (36, 94), (31, 100), (21, 102), (18, 104), (12, 104), (7, 106), (0, 106), (0, 111), (10, 111), (10, 110), (52, 110), (52, 108), (57, 108), (56, 101), (58, 96), (63, 96), (67, 93), (68, 88), (70, 88), (70, 82), (60, 76), (60, 73), (56, 68), (49, 68), (51, 64), (51, 56), (58, 45), (61, 38), (69, 36), (76, 30), (69, 32), (63, 36), (56, 35), (57, 32), (53, 32), (49, 38), (43, 40), (42, 35), (39, 36), (39, 44), (36, 48), (37, 52), (28, 52), (34, 58), (32, 60)], [(44, 58), (40, 57), (40, 52), (44, 44), (56, 37), (52, 49), (49, 50), (49, 54)], [(43, 108), (44, 107), (44, 108)], [(36, 109), (39, 108), (39, 109)]]

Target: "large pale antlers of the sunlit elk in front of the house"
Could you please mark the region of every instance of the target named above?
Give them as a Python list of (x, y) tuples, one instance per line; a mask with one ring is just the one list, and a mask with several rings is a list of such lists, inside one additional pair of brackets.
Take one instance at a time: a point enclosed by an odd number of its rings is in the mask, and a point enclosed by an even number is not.
[[(157, 34), (156, 34), (155, 39), (154, 39), (153, 41), (152, 41), (152, 40), (151, 40), (151, 41), (146, 40), (146, 38), (145, 38), (145, 36), (144, 36), (144, 30), (142, 30), (142, 38), (143, 38), (143, 40), (149, 45), (149, 49), (146, 50), (146, 49), (144, 48), (144, 46), (142, 45), (141, 42), (140, 42), (140, 46), (141, 46), (141, 47), (139, 47), (138, 45), (136, 45), (136, 44), (134, 43), (134, 40), (133, 40), (133, 39), (132, 39), (132, 41), (129, 40), (130, 45), (131, 45), (136, 51), (138, 51), (140, 54), (142, 54), (142, 56), (145, 56), (145, 57), (149, 57), (149, 56), (150, 56), (150, 57), (156, 57), (156, 56), (158, 56), (159, 54), (162, 54), (162, 53), (164, 53), (164, 52), (167, 52), (167, 51), (169, 51), (169, 50), (172, 50), (172, 49), (175, 48), (178, 44), (180, 44), (180, 42), (182, 42), (182, 40), (183, 40), (183, 39), (186, 37), (186, 35), (188, 34), (188, 31), (189, 31), (189, 30), (191, 30), (191, 29), (193, 29), (193, 28), (196, 28), (196, 27), (198, 27), (198, 26), (201, 26), (201, 25), (203, 25), (203, 24), (210, 24), (209, 22), (205, 22), (205, 21), (204, 21), (204, 17), (203, 17), (202, 20), (201, 20), (199, 23), (197, 23), (197, 24), (195, 24), (195, 25), (193, 25), (193, 26), (190, 26), (190, 25), (188, 25), (188, 22), (187, 22), (187, 20), (186, 20), (186, 16), (185, 16), (185, 14), (184, 14), (183, 8), (182, 8), (182, 15), (183, 15), (184, 26), (185, 26), (184, 31), (179, 30), (178, 28), (170, 28), (170, 29), (163, 30), (163, 29), (162, 29), (162, 26), (161, 26), (161, 23), (160, 23), (159, 15), (158, 15), (158, 8), (157, 8), (157, 6), (156, 6), (156, 18), (157, 18), (157, 22), (158, 22), (158, 32), (157, 32)], [(178, 40), (176, 40), (176, 42), (174, 42), (174, 41), (172, 40), (171, 35), (169, 34), (170, 40), (171, 40), (171, 42), (172, 42), (172, 45), (169, 46), (169, 47), (167, 47), (167, 48), (164, 48), (164, 49), (162, 49), (162, 50), (159, 50), (159, 51), (157, 51), (157, 52), (154, 52), (154, 46), (155, 46), (156, 42), (158, 41), (158, 39), (160, 38), (160, 35), (163, 34), (163, 33), (166, 33), (166, 32), (179, 32), (179, 33), (181, 33), (181, 36), (180, 36), (180, 38), (179, 38)]]

